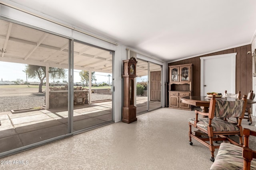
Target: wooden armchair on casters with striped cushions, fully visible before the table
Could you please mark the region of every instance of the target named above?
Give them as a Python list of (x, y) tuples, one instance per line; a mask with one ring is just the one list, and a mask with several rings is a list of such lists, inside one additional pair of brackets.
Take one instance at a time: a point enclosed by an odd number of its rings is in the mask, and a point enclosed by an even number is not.
[[(189, 144), (193, 145), (191, 140), (193, 138), (208, 147), (211, 152), (210, 160), (212, 162), (214, 162), (214, 150), (220, 147), (219, 145), (214, 145), (214, 142), (229, 141), (234, 145), (243, 145), (241, 123), (246, 109), (246, 102), (246, 95), (243, 96), (242, 100), (236, 101), (216, 100), (215, 96), (213, 96), (210, 100), (208, 117), (198, 118), (198, 114), (206, 115), (207, 113), (195, 110), (195, 118), (188, 119)], [(229, 117), (238, 117), (238, 123), (230, 122), (227, 119)], [(192, 126), (205, 133), (205, 135), (193, 135)], [(230, 139), (228, 135), (238, 135), (239, 144)]]

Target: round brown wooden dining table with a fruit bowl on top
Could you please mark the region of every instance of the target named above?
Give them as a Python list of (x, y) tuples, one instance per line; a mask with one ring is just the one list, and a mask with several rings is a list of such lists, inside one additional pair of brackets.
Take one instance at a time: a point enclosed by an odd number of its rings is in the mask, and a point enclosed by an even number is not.
[[(180, 98), (182, 103), (190, 104), (192, 106), (200, 106), (202, 108), (202, 112), (208, 113), (211, 97), (208, 96), (184, 96)], [(238, 100), (237, 98), (228, 98), (228, 97), (220, 97), (216, 98), (216, 100)], [(255, 100), (247, 99), (247, 104), (255, 104)]]

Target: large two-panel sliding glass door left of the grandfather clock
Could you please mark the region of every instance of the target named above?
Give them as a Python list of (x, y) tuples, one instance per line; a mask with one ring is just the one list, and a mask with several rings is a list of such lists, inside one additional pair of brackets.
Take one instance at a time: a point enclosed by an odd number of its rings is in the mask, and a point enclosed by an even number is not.
[(6, 20), (0, 33), (0, 156), (113, 122), (114, 51)]

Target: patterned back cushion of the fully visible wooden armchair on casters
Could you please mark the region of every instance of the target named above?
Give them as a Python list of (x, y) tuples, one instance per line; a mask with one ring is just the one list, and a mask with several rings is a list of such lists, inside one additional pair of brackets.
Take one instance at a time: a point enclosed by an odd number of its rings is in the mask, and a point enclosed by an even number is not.
[(228, 101), (216, 100), (216, 117), (242, 117), (244, 116), (244, 100)]

